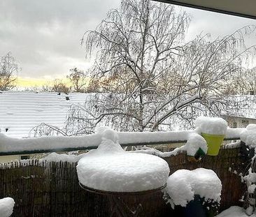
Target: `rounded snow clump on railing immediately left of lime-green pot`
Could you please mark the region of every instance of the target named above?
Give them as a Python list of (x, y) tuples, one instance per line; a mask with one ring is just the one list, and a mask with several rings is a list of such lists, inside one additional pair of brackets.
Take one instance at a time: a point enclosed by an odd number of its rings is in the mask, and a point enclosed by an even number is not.
[(188, 156), (194, 156), (198, 149), (201, 148), (204, 153), (207, 153), (207, 142), (204, 140), (204, 137), (198, 135), (197, 133), (192, 133), (185, 144), (185, 150), (187, 151)]

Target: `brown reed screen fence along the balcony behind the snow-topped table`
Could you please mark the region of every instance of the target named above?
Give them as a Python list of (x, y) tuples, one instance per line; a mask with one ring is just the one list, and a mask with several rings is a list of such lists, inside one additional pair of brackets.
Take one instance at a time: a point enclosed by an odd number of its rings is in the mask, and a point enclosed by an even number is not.
[[(187, 161), (185, 154), (164, 158), (171, 173), (179, 169), (205, 167), (214, 170), (222, 181), (220, 210), (232, 205), (243, 205), (239, 200), (245, 193), (239, 173), (246, 171), (246, 158), (241, 149), (221, 149), (218, 156), (206, 156), (200, 163)], [(78, 184), (76, 163), (41, 163), (30, 160), (29, 165), (9, 163), (0, 165), (0, 198), (13, 197), (13, 216), (108, 216), (106, 195), (95, 195), (82, 190)], [(135, 197), (135, 196), (133, 196)], [(127, 200), (131, 200), (129, 197)], [(145, 198), (134, 198), (144, 203), (140, 216), (166, 216), (171, 208), (162, 200), (162, 192)], [(150, 215), (149, 215), (150, 213)]]

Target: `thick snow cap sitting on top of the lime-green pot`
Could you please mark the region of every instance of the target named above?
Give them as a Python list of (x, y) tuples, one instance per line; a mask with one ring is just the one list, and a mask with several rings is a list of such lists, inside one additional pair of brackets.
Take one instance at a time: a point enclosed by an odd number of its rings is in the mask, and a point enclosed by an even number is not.
[(195, 126), (199, 133), (225, 135), (227, 131), (227, 121), (219, 117), (198, 117)]

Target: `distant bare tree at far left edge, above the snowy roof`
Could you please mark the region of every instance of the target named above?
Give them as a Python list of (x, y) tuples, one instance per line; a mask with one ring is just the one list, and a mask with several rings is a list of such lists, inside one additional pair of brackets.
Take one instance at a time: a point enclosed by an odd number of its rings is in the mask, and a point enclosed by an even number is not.
[(15, 81), (17, 79), (18, 66), (17, 61), (12, 56), (11, 52), (8, 52), (0, 59), (0, 90), (8, 91), (15, 87)]

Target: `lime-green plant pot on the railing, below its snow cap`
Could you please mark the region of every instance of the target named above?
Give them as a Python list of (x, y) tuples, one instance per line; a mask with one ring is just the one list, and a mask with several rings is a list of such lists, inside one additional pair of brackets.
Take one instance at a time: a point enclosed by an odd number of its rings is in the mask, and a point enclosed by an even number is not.
[(204, 137), (204, 139), (207, 142), (207, 146), (208, 146), (207, 155), (218, 156), (220, 151), (220, 146), (224, 140), (225, 135), (201, 133), (201, 136)]

